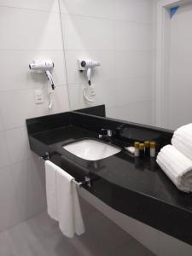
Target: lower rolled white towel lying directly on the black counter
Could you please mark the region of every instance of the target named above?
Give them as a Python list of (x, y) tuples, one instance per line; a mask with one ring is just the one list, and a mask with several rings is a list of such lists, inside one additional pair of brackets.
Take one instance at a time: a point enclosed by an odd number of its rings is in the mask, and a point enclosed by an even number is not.
[(157, 163), (166, 175), (184, 192), (192, 191), (192, 160), (189, 160), (177, 148), (167, 145), (161, 148)]

